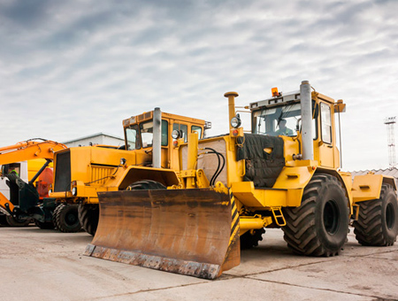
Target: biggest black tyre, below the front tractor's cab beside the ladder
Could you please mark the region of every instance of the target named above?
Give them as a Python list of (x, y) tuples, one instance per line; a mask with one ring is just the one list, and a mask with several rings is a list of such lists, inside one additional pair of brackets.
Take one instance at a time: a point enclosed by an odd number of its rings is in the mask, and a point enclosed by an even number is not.
[(340, 181), (316, 174), (304, 189), (302, 205), (283, 209), (287, 246), (308, 256), (334, 256), (348, 235), (348, 198)]

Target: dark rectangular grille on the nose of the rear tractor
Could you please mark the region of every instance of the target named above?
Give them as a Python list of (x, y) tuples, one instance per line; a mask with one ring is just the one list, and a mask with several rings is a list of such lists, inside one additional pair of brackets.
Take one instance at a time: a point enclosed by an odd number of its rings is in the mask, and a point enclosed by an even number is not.
[(54, 192), (68, 191), (71, 189), (71, 151), (56, 155), (56, 172)]

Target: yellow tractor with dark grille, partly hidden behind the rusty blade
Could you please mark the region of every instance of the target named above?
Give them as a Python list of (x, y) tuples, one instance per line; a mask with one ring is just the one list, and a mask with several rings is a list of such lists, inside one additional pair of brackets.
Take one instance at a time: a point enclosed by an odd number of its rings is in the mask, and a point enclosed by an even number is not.
[[(54, 184), (50, 197), (55, 197), (57, 208), (69, 204), (78, 206), (79, 220), (55, 220), (63, 232), (81, 224), (90, 235), (95, 235), (99, 217), (97, 192), (127, 189), (140, 181), (142, 189), (165, 188), (178, 184), (178, 144), (174, 145), (173, 130), (187, 142), (188, 134), (203, 137), (209, 122), (167, 112), (159, 108), (123, 120), (125, 145), (114, 147), (95, 145), (73, 147), (58, 151), (54, 158)], [(180, 137), (179, 136), (179, 137)], [(145, 180), (155, 180), (145, 181)], [(155, 185), (155, 186), (154, 186)], [(72, 206), (71, 206), (72, 205)]]

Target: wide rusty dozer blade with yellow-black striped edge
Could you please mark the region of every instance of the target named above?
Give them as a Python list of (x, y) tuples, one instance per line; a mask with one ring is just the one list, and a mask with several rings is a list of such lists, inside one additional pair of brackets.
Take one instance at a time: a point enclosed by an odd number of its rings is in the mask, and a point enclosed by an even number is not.
[(100, 219), (85, 255), (215, 279), (241, 262), (234, 201), (210, 189), (98, 193)]

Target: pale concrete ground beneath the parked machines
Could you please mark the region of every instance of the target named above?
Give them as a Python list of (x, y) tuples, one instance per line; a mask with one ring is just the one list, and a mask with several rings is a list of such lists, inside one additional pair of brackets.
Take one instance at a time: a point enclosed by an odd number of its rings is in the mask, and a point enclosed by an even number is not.
[(351, 233), (341, 256), (292, 254), (267, 230), (241, 266), (216, 281), (82, 256), (91, 236), (0, 226), (0, 301), (398, 300), (398, 245), (363, 247)]

